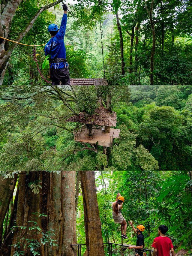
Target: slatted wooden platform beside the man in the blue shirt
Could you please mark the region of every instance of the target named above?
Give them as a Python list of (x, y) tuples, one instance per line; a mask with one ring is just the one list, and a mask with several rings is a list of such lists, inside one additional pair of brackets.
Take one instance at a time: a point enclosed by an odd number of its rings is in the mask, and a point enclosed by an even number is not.
[(70, 79), (70, 85), (108, 85), (104, 78)]

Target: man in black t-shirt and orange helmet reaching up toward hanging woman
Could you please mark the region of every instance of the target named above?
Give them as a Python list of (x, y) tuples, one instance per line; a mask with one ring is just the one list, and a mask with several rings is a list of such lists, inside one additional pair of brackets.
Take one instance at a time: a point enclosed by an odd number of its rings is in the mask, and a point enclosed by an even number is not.
[(136, 249), (135, 255), (143, 256), (144, 236), (143, 236), (142, 232), (145, 230), (145, 227), (143, 225), (139, 224), (139, 225), (137, 225), (137, 228), (135, 228), (131, 221), (128, 221), (128, 222), (131, 225), (134, 232), (137, 234), (136, 246), (135, 245), (129, 246), (129, 249)]

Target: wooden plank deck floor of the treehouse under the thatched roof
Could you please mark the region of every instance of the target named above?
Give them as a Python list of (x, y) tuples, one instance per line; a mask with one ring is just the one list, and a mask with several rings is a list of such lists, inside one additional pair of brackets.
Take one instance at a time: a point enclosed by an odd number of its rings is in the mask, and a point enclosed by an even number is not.
[(110, 133), (102, 133), (101, 129), (95, 129), (95, 133), (91, 137), (85, 137), (85, 130), (80, 133), (80, 136), (75, 141), (97, 144), (104, 147), (110, 147), (113, 143), (113, 138), (119, 138), (119, 129), (110, 129)]

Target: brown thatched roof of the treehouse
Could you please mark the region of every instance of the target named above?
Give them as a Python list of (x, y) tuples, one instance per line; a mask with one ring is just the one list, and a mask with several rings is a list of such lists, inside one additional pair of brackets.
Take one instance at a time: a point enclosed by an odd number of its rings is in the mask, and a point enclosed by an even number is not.
[(104, 107), (99, 107), (95, 110), (95, 113), (92, 116), (88, 116), (85, 112), (81, 112), (78, 116), (72, 116), (66, 121), (91, 125), (116, 126), (117, 115), (116, 112), (109, 112)]

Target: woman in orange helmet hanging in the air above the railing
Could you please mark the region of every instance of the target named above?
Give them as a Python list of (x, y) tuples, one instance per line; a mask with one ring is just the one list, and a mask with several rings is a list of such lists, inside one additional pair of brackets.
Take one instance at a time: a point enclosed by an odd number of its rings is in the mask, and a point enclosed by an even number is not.
[(125, 201), (124, 197), (122, 197), (120, 193), (118, 193), (116, 197), (116, 201), (112, 203), (113, 219), (115, 223), (121, 224), (121, 236), (123, 238), (128, 238), (126, 236), (127, 222), (121, 213), (121, 209), (123, 207), (124, 201)]

